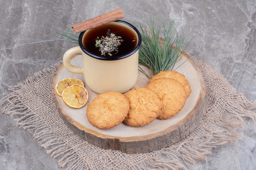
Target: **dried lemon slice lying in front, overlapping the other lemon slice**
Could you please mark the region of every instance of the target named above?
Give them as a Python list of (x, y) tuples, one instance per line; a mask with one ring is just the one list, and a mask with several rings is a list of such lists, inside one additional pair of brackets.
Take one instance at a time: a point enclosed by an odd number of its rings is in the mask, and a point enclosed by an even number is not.
[(88, 101), (88, 91), (84, 86), (72, 85), (61, 93), (63, 102), (71, 108), (81, 108)]

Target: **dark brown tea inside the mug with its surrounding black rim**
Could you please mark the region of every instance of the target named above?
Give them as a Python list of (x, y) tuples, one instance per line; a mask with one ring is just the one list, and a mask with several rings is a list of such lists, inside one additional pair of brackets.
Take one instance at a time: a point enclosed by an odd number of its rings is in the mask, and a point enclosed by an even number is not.
[[(113, 33), (122, 40), (121, 45), (108, 53), (103, 54), (96, 41)], [(121, 38), (120, 38), (121, 37)], [(115, 21), (97, 28), (80, 33), (79, 46), (84, 53), (99, 60), (120, 60), (135, 53), (141, 44), (141, 35), (135, 26), (125, 21)]]

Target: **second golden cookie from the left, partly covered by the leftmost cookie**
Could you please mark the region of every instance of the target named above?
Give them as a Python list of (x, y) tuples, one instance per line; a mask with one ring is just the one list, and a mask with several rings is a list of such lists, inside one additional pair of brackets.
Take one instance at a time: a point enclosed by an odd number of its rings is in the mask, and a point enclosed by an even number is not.
[(130, 110), (123, 123), (128, 126), (145, 126), (155, 120), (162, 109), (159, 96), (150, 88), (137, 87), (128, 91)]

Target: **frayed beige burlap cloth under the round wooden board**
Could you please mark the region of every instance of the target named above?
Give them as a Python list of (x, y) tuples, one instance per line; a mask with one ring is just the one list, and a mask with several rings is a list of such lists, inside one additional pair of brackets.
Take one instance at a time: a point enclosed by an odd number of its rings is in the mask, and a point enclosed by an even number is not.
[(2, 112), (33, 130), (34, 139), (67, 170), (190, 169), (196, 159), (237, 140), (248, 118), (256, 119), (255, 104), (231, 86), (223, 75), (192, 57), (207, 86), (208, 109), (200, 125), (185, 139), (161, 150), (126, 154), (98, 148), (76, 135), (61, 119), (51, 94), (56, 64), (9, 89), (0, 100)]

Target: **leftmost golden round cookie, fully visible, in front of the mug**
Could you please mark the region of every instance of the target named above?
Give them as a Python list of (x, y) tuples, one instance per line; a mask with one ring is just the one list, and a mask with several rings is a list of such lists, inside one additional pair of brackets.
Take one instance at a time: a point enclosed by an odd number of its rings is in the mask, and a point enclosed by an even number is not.
[(88, 104), (86, 116), (93, 126), (108, 129), (121, 124), (129, 108), (127, 97), (116, 91), (108, 91), (99, 94)]

